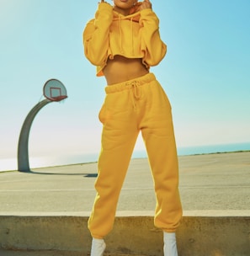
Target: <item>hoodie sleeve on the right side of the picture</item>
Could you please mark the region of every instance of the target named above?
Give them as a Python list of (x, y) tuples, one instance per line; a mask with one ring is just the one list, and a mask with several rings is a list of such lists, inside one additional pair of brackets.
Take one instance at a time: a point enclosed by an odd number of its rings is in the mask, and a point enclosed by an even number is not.
[(167, 53), (165, 45), (160, 37), (159, 19), (152, 9), (141, 10), (141, 51), (143, 51), (143, 61), (148, 66), (156, 66)]

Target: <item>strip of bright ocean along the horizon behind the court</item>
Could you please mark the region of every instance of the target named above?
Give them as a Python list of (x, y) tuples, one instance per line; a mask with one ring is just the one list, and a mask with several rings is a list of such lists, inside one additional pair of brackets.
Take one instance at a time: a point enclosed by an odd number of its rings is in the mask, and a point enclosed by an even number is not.
[[(178, 156), (241, 151), (250, 151), (250, 142), (197, 147), (178, 147)], [(132, 156), (132, 158), (144, 157), (146, 157), (146, 150), (135, 151)], [(45, 168), (51, 166), (60, 166), (77, 163), (93, 163), (97, 162), (97, 160), (98, 153), (56, 155), (53, 157), (29, 157), (29, 167)], [(17, 168), (17, 158), (0, 159), (0, 172), (8, 170), (17, 170)]]

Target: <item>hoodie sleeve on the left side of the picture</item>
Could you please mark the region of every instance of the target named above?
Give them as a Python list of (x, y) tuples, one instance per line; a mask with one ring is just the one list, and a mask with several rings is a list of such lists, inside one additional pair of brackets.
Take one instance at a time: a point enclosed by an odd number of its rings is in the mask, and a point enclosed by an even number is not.
[(113, 20), (113, 8), (109, 3), (99, 3), (95, 19), (91, 19), (83, 31), (84, 54), (93, 65), (103, 65), (109, 48), (109, 26)]

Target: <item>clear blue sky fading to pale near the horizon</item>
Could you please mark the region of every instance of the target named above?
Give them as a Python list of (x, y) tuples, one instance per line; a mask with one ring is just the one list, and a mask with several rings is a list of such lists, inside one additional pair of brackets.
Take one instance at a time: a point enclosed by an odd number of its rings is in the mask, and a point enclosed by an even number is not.
[[(95, 77), (82, 49), (97, 3), (0, 0), (0, 158), (16, 157), (24, 119), (51, 78), (64, 83), (68, 99), (40, 110), (29, 155), (99, 151), (105, 80)], [(152, 6), (168, 45), (152, 72), (172, 103), (178, 147), (249, 142), (250, 2), (152, 0)]]

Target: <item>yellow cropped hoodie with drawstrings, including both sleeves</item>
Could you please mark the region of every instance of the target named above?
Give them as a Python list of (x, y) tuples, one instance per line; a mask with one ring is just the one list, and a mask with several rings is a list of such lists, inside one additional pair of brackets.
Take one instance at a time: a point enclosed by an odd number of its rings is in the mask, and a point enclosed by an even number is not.
[(159, 19), (151, 8), (124, 16), (109, 3), (99, 3), (95, 18), (83, 31), (84, 54), (104, 76), (107, 60), (120, 55), (141, 58), (146, 68), (156, 66), (166, 55), (159, 33)]

